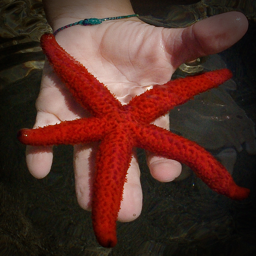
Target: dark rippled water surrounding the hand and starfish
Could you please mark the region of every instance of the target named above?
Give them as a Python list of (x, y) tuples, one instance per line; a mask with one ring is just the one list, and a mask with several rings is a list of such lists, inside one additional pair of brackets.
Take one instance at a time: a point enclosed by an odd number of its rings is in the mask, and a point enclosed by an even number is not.
[[(247, 35), (223, 52), (222, 58), (209, 56), (200, 63), (205, 70), (228, 65), (233, 80), (175, 108), (170, 122), (171, 130), (215, 154), (233, 172), (237, 183), (253, 188), (255, 49), (248, 49), (248, 45), (255, 41), (255, 3), (216, 1), (164, 6), (150, 15), (144, 9), (141, 16), (150, 24), (174, 27), (234, 9), (251, 19)], [(132, 2), (138, 10), (147, 4), (153, 8), (150, 5), (154, 4)], [(118, 223), (119, 243), (115, 248), (99, 248), (90, 212), (76, 201), (72, 147), (55, 147), (51, 172), (37, 180), (26, 169), (25, 147), (16, 140), (16, 132), (32, 127), (35, 120), (34, 105), (44, 65), (39, 38), (51, 32), (42, 3), (4, 0), (0, 12), (0, 255), (247, 256), (255, 251), (254, 190), (251, 198), (235, 202), (216, 195), (189, 170), (180, 181), (159, 183), (150, 176), (143, 151), (138, 151), (142, 214), (133, 222)], [(185, 75), (178, 69), (174, 77)]]

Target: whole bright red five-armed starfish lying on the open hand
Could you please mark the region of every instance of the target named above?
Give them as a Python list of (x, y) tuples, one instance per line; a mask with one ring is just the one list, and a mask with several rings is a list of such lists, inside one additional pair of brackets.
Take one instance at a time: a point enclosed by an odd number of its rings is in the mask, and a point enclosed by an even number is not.
[(249, 189), (237, 186), (225, 167), (204, 148), (151, 124), (174, 106), (230, 79), (231, 71), (216, 70), (155, 85), (122, 105), (104, 84), (58, 45), (52, 34), (41, 37), (41, 46), (56, 74), (92, 117), (22, 129), (18, 139), (34, 146), (101, 142), (96, 156), (92, 222), (102, 246), (113, 247), (117, 242), (116, 219), (133, 147), (188, 165), (220, 194), (236, 200), (248, 197)]

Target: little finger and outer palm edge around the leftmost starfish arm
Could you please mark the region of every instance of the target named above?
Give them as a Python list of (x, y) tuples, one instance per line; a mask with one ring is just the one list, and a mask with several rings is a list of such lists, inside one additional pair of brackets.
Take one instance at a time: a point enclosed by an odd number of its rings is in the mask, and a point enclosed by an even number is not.
[[(37, 116), (34, 128), (60, 123), (61, 120), (73, 120), (79, 117), (78, 108), (74, 104), (71, 104), (73, 102), (71, 96), (69, 94), (65, 96), (65, 93), (61, 90), (61, 86), (63, 86), (62, 83), (56, 78), (49, 63), (46, 61), (40, 93), (36, 101)], [(69, 102), (69, 108), (65, 106), (67, 102)], [(79, 114), (74, 114), (74, 112)], [(27, 166), (30, 173), (36, 178), (44, 178), (50, 172), (52, 157), (52, 147), (27, 146)]]

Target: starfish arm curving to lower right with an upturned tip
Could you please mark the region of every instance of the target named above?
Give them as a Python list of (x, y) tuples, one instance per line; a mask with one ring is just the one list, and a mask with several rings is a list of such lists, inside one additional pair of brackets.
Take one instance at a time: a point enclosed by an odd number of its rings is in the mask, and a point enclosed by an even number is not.
[(249, 196), (250, 190), (236, 185), (226, 168), (195, 142), (153, 124), (137, 134), (137, 146), (186, 164), (212, 190), (235, 200)]

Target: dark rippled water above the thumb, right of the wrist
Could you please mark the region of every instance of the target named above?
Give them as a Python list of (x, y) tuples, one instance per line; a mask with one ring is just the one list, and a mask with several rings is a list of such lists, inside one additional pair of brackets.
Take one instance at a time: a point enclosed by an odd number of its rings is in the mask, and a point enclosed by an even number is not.
[(143, 1), (131, 0), (131, 3), (138, 8), (144, 22), (159, 27), (187, 27), (198, 20), (230, 11), (239, 11), (249, 19), (256, 19), (254, 0), (150, 0), (148, 8)]

